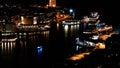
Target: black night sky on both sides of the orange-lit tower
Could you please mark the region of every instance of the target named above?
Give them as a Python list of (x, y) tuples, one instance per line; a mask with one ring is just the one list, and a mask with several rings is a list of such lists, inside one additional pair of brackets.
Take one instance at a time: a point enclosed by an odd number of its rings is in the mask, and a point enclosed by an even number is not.
[[(78, 10), (99, 10), (105, 12), (108, 17), (119, 17), (119, 0), (57, 0), (57, 6), (70, 7)], [(49, 0), (0, 0), (4, 4), (11, 2), (13, 4), (39, 4), (46, 5)], [(117, 20), (117, 19), (115, 19)]]

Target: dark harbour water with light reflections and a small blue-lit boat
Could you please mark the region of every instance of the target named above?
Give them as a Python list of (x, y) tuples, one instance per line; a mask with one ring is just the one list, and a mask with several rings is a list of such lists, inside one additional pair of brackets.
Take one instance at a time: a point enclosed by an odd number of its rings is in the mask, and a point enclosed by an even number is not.
[(15, 42), (1, 43), (0, 65), (8, 68), (52, 68), (63, 64), (75, 52), (74, 39), (78, 33), (79, 25), (53, 24), (51, 29), (39, 34), (19, 35)]

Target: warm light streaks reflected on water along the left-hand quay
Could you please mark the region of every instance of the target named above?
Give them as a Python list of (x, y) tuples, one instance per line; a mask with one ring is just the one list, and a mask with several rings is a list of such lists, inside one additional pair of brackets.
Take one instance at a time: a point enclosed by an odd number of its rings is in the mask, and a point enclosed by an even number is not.
[[(42, 37), (39, 37), (39, 35), (41, 35)], [(31, 46), (31, 45), (37, 45), (39, 44), (39, 40), (40, 42), (42, 41), (42, 39), (48, 39), (49, 38), (49, 31), (43, 31), (40, 34), (37, 35), (31, 35), (31, 36), (19, 36), (19, 43), (18, 42), (2, 42), (0, 44), (0, 48), (1, 48), (1, 54), (10, 54), (13, 53), (13, 51), (15, 51), (15, 47), (18, 46), (18, 44), (20, 45), (20, 47), (22, 48), (26, 48), (27, 46)], [(29, 43), (29, 45), (28, 45)]]

